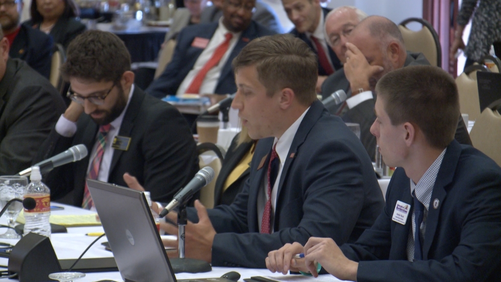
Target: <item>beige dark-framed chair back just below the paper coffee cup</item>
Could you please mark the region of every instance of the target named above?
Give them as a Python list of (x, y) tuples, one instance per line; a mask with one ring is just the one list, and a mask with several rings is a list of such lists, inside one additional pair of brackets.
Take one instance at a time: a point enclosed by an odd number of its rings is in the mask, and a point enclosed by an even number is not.
[(215, 176), (212, 181), (205, 185), (200, 190), (200, 202), (206, 208), (214, 207), (214, 188), (217, 176), (221, 171), (222, 161), (224, 158), (224, 150), (217, 147), (213, 143), (202, 143), (196, 147), (198, 151), (198, 159), (200, 168), (211, 167), (214, 170)]

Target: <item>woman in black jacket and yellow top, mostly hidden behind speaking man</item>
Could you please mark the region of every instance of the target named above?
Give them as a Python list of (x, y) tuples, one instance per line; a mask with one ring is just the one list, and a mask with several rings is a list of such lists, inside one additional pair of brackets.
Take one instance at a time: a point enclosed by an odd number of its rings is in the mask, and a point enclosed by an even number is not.
[(231, 204), (236, 194), (242, 191), (250, 175), (250, 161), (257, 142), (250, 139), (245, 126), (242, 126), (240, 133), (231, 141), (216, 179), (214, 207)]

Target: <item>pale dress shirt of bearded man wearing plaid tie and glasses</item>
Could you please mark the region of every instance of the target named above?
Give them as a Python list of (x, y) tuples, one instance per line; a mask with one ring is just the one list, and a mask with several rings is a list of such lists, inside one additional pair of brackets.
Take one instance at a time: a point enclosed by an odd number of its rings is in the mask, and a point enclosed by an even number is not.
[[(118, 135), (118, 132), (120, 131), (120, 126), (122, 125), (124, 114), (127, 111), (127, 108), (129, 107), (130, 99), (132, 98), (133, 92), (134, 92), (134, 84), (130, 88), (129, 99), (127, 100), (127, 105), (125, 106), (124, 110), (117, 118), (115, 118), (115, 120), (110, 122), (111, 125), (110, 131), (106, 135), (106, 148), (104, 149), (103, 159), (101, 161), (101, 165), (99, 166), (99, 174), (97, 177), (97, 180), (99, 181), (108, 182), (111, 160), (113, 159), (113, 152), (115, 151), (115, 149), (111, 148), (111, 145), (113, 143), (112, 141), (113, 138), (115, 138), (115, 136)], [(56, 131), (65, 137), (73, 137), (73, 135), (75, 135), (75, 132), (77, 132), (77, 123), (68, 120), (66, 117), (64, 117), (64, 114), (62, 114), (61, 117), (59, 117), (58, 122), (56, 123)], [(97, 134), (99, 134), (99, 132)], [(97, 134), (95, 136), (96, 141), (97, 141)], [(89, 159), (89, 165), (87, 167), (87, 174), (89, 174), (89, 170), (92, 165), (92, 160), (94, 159), (96, 151), (97, 151), (97, 142), (94, 142), (94, 147), (92, 148)]]

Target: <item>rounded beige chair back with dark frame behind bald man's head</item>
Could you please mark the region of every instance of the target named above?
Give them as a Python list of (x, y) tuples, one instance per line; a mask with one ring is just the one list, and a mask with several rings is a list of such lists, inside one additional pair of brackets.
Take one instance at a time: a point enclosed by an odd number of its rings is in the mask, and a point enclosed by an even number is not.
[[(409, 23), (419, 23), (423, 27), (419, 31), (412, 31), (406, 27)], [(438, 34), (426, 20), (409, 18), (398, 25), (404, 39), (405, 49), (411, 52), (421, 52), (433, 66), (442, 66), (442, 49)]]

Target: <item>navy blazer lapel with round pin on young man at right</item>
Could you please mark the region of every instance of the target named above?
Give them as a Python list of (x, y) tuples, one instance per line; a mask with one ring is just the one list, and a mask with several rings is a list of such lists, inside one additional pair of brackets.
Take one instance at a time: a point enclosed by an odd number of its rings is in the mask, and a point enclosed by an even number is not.
[[(459, 156), (461, 155), (461, 146), (456, 140), (452, 140), (451, 144), (447, 147), (447, 151), (443, 156), (442, 164), (433, 185), (433, 192), (431, 193), (431, 202), (428, 208), (428, 216), (426, 218), (426, 232), (424, 234), (423, 242), (423, 259), (428, 259), (428, 252), (435, 237), (435, 232), (438, 225), (438, 218), (442, 203), (447, 195), (446, 187), (452, 182), (454, 178), (454, 171), (456, 170)], [(438, 206), (435, 208), (434, 202), (438, 200)]]

